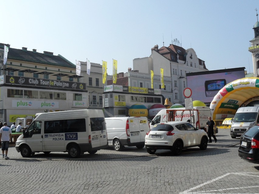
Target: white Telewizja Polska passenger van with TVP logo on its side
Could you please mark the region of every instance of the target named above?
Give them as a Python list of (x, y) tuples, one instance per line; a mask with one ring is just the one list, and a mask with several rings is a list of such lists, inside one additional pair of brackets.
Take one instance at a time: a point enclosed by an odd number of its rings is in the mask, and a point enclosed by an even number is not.
[(16, 141), (22, 157), (35, 152), (68, 152), (77, 158), (84, 152), (94, 154), (108, 147), (102, 110), (75, 110), (39, 114)]

